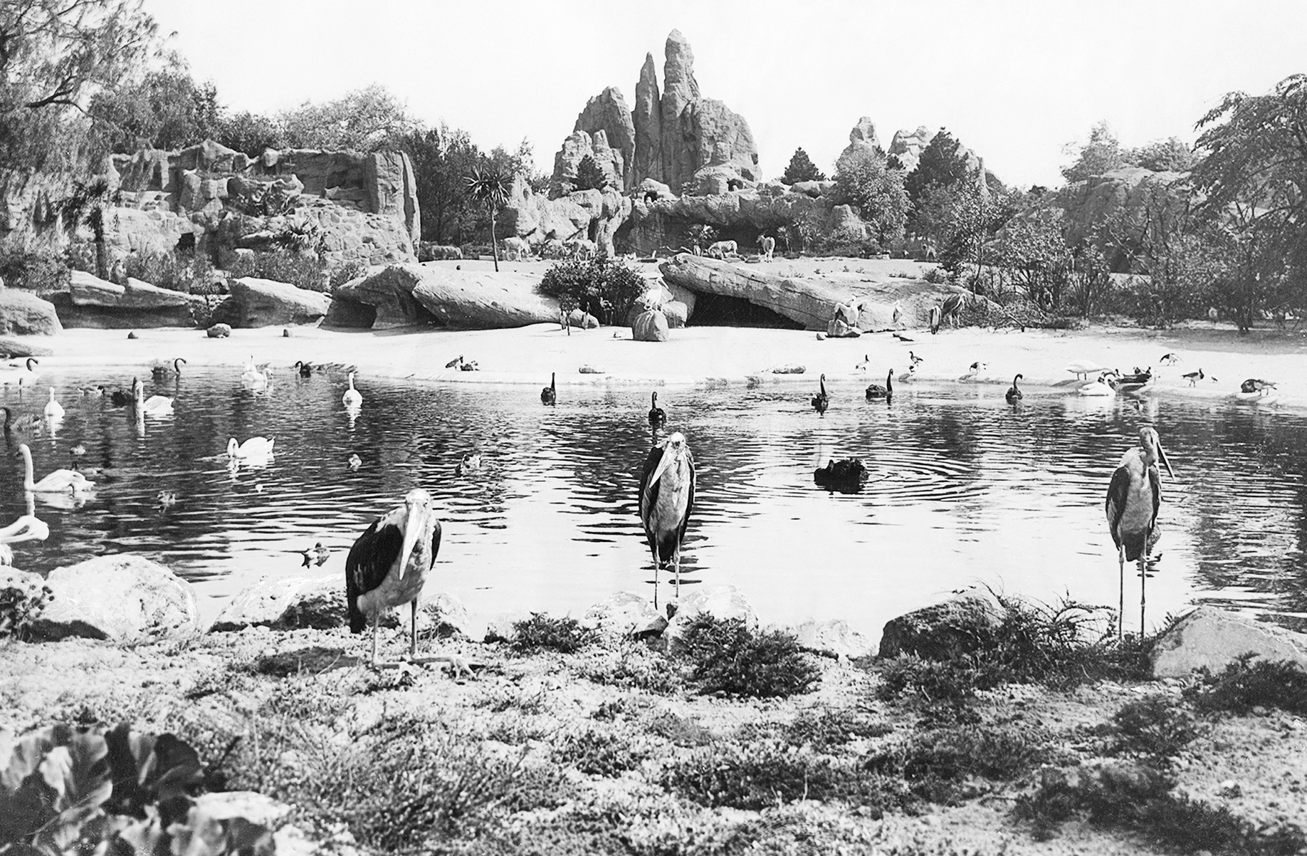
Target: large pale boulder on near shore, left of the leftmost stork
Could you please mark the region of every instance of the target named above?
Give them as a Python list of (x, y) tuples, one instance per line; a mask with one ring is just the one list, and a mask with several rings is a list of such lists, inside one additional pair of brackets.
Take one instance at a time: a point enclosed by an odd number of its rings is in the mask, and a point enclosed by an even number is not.
[(200, 631), (195, 589), (139, 555), (99, 555), (50, 572), (50, 605), (33, 623), (38, 640), (68, 636), (141, 642)]

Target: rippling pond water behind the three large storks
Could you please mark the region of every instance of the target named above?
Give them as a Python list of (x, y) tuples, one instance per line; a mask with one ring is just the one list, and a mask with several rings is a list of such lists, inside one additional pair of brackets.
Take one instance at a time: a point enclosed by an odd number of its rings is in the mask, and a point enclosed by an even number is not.
[[(136, 420), (76, 395), (123, 379), (42, 383), (60, 389), (65, 416), (7, 436), (9, 450), (29, 442), (38, 478), (76, 460), (98, 485), (85, 503), (38, 497), (51, 536), (16, 545), (26, 570), (141, 553), (212, 596), (212, 617), (243, 585), (299, 574), (297, 553), (315, 541), (333, 551), (322, 570), (342, 574), (369, 520), (421, 485), (446, 524), (437, 584), (474, 613), (579, 614), (652, 579), (635, 499), (647, 389), (569, 389), (545, 408), (529, 386), (362, 379), (365, 404), (346, 412), (344, 375), (284, 371), (251, 391), (237, 370), (195, 371), (146, 382), (148, 395), (175, 396), (175, 412)], [(827, 388), (825, 416), (799, 387), (661, 392), (669, 430), (687, 436), (698, 465), (682, 583), (738, 585), (763, 621), (839, 617), (869, 633), (978, 582), (1115, 604), (1103, 497), (1138, 426), (1154, 425), (1178, 478), (1165, 484), (1149, 614), (1206, 601), (1307, 623), (1307, 418), (1033, 392), (1009, 406), (1004, 387), (903, 388), (886, 406), (851, 383)], [(35, 414), (46, 401), (0, 396)], [(229, 468), (229, 439), (254, 435), (276, 438), (274, 455)], [(473, 451), (481, 470), (457, 476)], [(850, 455), (872, 473), (861, 493), (813, 484), (813, 469)], [(21, 478), (7, 455), (0, 525), (25, 511)], [(1137, 578), (1127, 585), (1127, 604), (1137, 601)], [(1134, 616), (1128, 608), (1127, 627)]]

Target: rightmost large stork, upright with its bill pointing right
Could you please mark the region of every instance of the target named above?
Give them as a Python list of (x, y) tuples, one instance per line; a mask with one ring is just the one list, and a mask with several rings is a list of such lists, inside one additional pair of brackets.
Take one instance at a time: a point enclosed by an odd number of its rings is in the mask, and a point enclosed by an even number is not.
[(1140, 429), (1140, 446), (1121, 455), (1121, 463), (1112, 473), (1107, 486), (1107, 528), (1116, 544), (1116, 557), (1120, 570), (1120, 601), (1116, 635), (1121, 638), (1121, 623), (1125, 614), (1125, 562), (1140, 563), (1140, 638), (1144, 636), (1144, 571), (1149, 553), (1153, 549), (1153, 531), (1157, 525), (1157, 510), (1162, 504), (1162, 476), (1157, 469), (1158, 460), (1166, 472), (1175, 478), (1171, 463), (1166, 460), (1162, 442), (1150, 427)]

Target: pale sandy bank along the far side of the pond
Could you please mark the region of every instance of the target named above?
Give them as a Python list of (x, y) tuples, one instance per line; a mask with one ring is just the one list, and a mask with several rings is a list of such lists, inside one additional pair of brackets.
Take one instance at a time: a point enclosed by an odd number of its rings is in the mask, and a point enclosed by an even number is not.
[[(207, 338), (203, 331), (144, 329), (128, 340), (124, 331), (69, 329), (55, 337), (33, 337), (34, 345), (52, 349), (41, 365), (58, 369), (122, 369), (123, 374), (156, 362), (184, 357), (187, 366), (235, 367), (251, 355), (273, 370), (295, 361), (348, 365), (359, 382), (371, 378), (442, 383), (521, 383), (540, 386), (558, 372), (559, 386), (663, 386), (704, 383), (786, 383), (813, 386), (825, 374), (835, 382), (884, 383), (893, 369), (902, 374), (911, 350), (923, 359), (916, 383), (957, 383), (972, 362), (985, 370), (965, 382), (1002, 395), (1016, 374), (1035, 395), (1067, 395), (1082, 386), (1067, 366), (1089, 361), (1131, 371), (1151, 366), (1157, 379), (1150, 395), (1206, 401), (1239, 401), (1257, 406), (1307, 406), (1307, 338), (1297, 333), (1255, 333), (1189, 328), (1168, 332), (1132, 328), (1087, 331), (945, 329), (904, 331), (903, 342), (889, 332), (860, 338), (819, 341), (801, 331), (731, 327), (690, 327), (672, 331), (668, 342), (635, 342), (630, 329), (574, 329), (569, 336), (554, 324), (494, 331), (333, 331), (293, 327), (238, 329), (230, 338)], [(1162, 367), (1165, 353), (1180, 362)], [(474, 359), (478, 371), (455, 371), (444, 365), (457, 355)], [(869, 369), (855, 369), (864, 358)], [(779, 366), (801, 365), (801, 375), (778, 375)], [(601, 374), (580, 374), (589, 366)], [(1183, 374), (1204, 371), (1191, 387)], [(1214, 379), (1213, 379), (1214, 378)], [(1277, 382), (1276, 395), (1248, 400), (1239, 395), (1246, 378)], [(899, 384), (902, 388), (902, 383)]]

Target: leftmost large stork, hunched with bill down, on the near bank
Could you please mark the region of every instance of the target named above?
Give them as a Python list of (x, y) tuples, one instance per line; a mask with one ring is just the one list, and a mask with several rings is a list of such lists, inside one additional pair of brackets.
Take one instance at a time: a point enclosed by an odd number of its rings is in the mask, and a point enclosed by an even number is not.
[(431, 494), (414, 487), (404, 497), (404, 504), (372, 521), (345, 558), (345, 600), (350, 633), (363, 633), (372, 622), (372, 667), (376, 659), (376, 635), (382, 613), (404, 604), (409, 605), (410, 663), (450, 663), (454, 676), (471, 673), (459, 656), (417, 657), (417, 599), (422, 593), (426, 575), (440, 551), (440, 521), (431, 510)]

